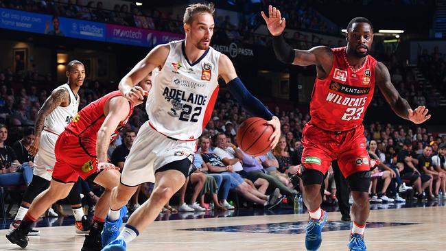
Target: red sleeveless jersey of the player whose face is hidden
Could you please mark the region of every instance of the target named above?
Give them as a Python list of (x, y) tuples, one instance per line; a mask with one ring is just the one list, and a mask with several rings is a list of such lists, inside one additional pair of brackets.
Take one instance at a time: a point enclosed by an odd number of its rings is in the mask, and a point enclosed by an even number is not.
[[(119, 91), (113, 91), (107, 95), (104, 95), (104, 97), (91, 102), (88, 106), (85, 106), (82, 110), (80, 110), (80, 112), (73, 117), (71, 123), (69, 123), (69, 125), (67, 125), (65, 128), (65, 130), (70, 131), (72, 134), (80, 138), (79, 143), (87, 154), (93, 156), (96, 155), (95, 149), (97, 132), (99, 131), (99, 128), (101, 128), (105, 119), (104, 107), (108, 100), (117, 96), (122, 95)], [(130, 104), (130, 111), (128, 112), (126, 119), (119, 122), (119, 125), (111, 136), (110, 141), (113, 141), (117, 137), (119, 130), (126, 125), (128, 118), (130, 115), (132, 115), (132, 112), (133, 106)]]

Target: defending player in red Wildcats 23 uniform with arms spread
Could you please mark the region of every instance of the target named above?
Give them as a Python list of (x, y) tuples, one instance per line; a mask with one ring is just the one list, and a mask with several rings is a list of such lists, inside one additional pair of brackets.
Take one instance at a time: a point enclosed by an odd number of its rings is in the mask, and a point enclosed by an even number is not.
[(368, 55), (373, 41), (373, 27), (363, 17), (347, 26), (347, 47), (325, 46), (309, 50), (292, 49), (282, 36), (285, 18), (275, 7), (269, 15), (261, 12), (273, 36), (273, 48), (281, 62), (300, 66), (316, 65), (316, 82), (310, 102), (312, 119), (303, 130), (303, 199), (309, 211), (305, 236), (307, 250), (318, 250), (327, 213), (320, 209), (320, 184), (331, 160), (338, 160), (340, 170), (349, 180), (353, 195), (353, 229), (350, 250), (366, 250), (363, 233), (369, 213), (368, 187), (370, 159), (362, 119), (373, 97), (375, 84), (394, 112), (403, 119), (423, 123), (430, 118), (425, 106), (412, 110), (390, 82), (388, 69)]

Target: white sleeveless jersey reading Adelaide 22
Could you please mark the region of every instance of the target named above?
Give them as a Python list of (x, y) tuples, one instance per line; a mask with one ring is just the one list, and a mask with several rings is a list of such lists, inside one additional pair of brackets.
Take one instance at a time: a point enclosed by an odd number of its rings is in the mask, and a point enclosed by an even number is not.
[(218, 59), (212, 47), (192, 64), (184, 40), (169, 43), (164, 67), (152, 72), (146, 110), (150, 124), (162, 134), (180, 140), (198, 139), (211, 118), (218, 95)]

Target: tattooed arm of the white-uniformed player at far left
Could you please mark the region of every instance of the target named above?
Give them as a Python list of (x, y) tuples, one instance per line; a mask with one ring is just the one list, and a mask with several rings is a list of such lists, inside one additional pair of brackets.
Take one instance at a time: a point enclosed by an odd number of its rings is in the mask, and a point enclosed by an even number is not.
[(45, 100), (42, 108), (37, 113), (36, 124), (34, 125), (34, 134), (36, 134), (36, 139), (30, 145), (30, 154), (36, 156), (39, 147), (40, 135), (43, 131), (43, 125), (45, 123), (45, 118), (58, 108), (58, 106), (68, 106), (70, 103), (70, 94), (66, 88), (58, 88), (54, 90), (51, 95)]

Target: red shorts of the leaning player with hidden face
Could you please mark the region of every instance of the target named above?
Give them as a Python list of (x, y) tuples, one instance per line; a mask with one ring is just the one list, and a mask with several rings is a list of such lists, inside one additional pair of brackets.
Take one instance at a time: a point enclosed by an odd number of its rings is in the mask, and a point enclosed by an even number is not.
[[(91, 150), (95, 149), (96, 145), (89, 144), (83, 147)], [(97, 160), (95, 156), (87, 154), (86, 150), (81, 147), (78, 136), (67, 130), (62, 132), (54, 149), (56, 165), (54, 165), (53, 180), (63, 183), (76, 182), (79, 177), (85, 180), (95, 174)]]

